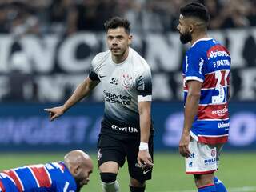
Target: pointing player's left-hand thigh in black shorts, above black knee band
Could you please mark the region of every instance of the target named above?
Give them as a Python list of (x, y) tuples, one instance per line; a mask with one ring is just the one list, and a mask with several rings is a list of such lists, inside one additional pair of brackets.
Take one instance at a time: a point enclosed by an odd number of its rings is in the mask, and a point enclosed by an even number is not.
[(98, 166), (101, 171), (118, 170), (119, 167), (124, 165), (125, 158), (126, 154), (124, 153), (121, 141), (106, 134), (101, 134), (99, 136)]

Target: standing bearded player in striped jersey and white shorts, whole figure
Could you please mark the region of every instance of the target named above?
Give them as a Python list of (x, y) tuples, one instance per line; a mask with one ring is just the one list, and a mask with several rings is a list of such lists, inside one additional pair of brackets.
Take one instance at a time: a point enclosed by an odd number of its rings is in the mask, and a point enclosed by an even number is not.
[(182, 67), (185, 118), (179, 152), (186, 157), (186, 174), (194, 174), (199, 192), (225, 192), (214, 171), (230, 126), (230, 53), (207, 35), (210, 17), (205, 6), (192, 2), (180, 12), (180, 40), (191, 47)]

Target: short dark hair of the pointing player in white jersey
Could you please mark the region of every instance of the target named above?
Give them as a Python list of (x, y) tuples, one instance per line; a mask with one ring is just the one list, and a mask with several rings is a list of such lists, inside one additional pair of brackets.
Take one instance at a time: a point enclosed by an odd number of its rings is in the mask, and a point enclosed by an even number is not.
[(116, 29), (123, 27), (127, 34), (130, 34), (130, 22), (126, 18), (114, 17), (110, 18), (104, 23), (106, 31), (109, 29)]

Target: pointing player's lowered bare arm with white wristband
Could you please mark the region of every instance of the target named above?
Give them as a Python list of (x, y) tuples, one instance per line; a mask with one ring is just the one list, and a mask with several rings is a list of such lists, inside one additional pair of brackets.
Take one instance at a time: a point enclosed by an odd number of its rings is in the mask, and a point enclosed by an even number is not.
[(145, 163), (146, 166), (153, 166), (153, 161), (148, 149), (151, 126), (151, 102), (138, 102), (138, 113), (141, 130), (138, 164), (142, 166), (142, 163)]

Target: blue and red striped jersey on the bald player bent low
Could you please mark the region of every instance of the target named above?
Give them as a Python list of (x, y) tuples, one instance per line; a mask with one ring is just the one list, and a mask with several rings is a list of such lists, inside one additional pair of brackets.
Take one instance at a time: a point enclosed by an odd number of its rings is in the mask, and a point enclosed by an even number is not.
[(63, 162), (22, 166), (0, 173), (1, 192), (74, 192), (76, 183)]

